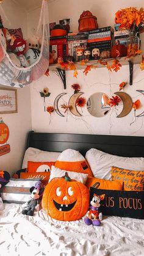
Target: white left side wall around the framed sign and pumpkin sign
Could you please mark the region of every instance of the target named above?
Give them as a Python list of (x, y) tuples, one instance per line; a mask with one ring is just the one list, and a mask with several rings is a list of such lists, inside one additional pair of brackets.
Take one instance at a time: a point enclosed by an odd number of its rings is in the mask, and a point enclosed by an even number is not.
[[(7, 21), (1, 12), (4, 26), (13, 29), (21, 27), (24, 37), (27, 37), (26, 12), (11, 0), (4, 0), (1, 6), (5, 15), (9, 18), (9, 21)], [(2, 86), (0, 85), (0, 87)], [(5, 86), (5, 88), (12, 87)], [(10, 153), (0, 156), (0, 169), (7, 170), (11, 174), (21, 168), (27, 132), (31, 130), (30, 86), (17, 89), (17, 92), (18, 113), (1, 114), (4, 123), (9, 126), (10, 136), (7, 143), (10, 144)]]

